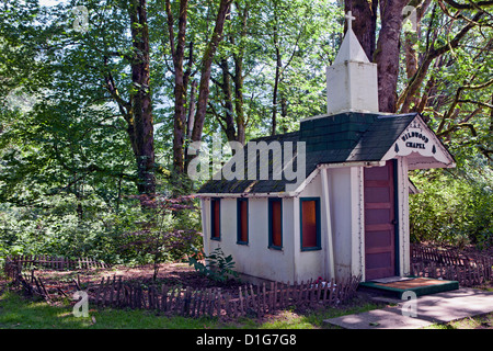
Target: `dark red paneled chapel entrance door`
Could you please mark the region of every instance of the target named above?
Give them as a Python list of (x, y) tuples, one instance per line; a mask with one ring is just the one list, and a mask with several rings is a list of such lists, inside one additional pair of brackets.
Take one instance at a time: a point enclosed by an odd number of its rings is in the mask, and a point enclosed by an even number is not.
[(365, 168), (366, 280), (395, 275), (393, 161)]

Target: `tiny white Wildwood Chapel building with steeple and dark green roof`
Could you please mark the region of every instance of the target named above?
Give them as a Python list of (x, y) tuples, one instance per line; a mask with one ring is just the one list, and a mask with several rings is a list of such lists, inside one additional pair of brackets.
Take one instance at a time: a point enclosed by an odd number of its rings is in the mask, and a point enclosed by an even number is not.
[[(420, 114), (379, 112), (377, 65), (353, 33), (351, 12), (346, 19), (326, 68), (326, 114), (252, 140), (296, 145), (288, 156), (303, 160), (297, 165), (306, 177), (294, 183), (271, 167), (270, 179), (211, 179), (196, 194), (205, 253), (220, 247), (244, 276), (294, 283), (408, 275), (408, 171), (455, 167)], [(252, 168), (246, 157), (243, 166)]]

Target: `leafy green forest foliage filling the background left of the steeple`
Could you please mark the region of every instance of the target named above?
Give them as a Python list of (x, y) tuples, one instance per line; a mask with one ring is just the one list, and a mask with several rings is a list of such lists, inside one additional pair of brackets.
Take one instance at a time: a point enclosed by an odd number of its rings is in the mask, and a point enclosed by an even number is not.
[[(323, 107), (322, 66), (333, 58), (334, 32), (340, 27), (332, 19), (341, 14), (329, 2), (238, 1), (231, 8), (218, 49), (228, 57), (231, 73), (232, 55), (244, 55), (241, 93), (248, 138), (264, 134), (268, 125), (276, 26), (285, 66), (279, 94), (288, 100), (289, 114), (279, 120), (280, 128), (296, 128), (299, 116)], [(89, 11), (87, 32), (73, 27), (76, 5)], [(142, 213), (130, 197), (136, 194), (137, 177), (128, 125), (105, 89), (111, 77), (123, 100), (128, 101), (135, 90), (126, 5), (115, 0), (46, 7), (36, 0), (0, 2), (4, 14), (0, 18), (1, 256), (91, 256), (112, 263), (149, 263), (182, 259), (200, 249), (197, 235), (188, 239), (190, 230), (200, 228), (197, 211), (159, 217)], [(176, 19), (179, 3), (171, 7)], [(185, 41), (186, 50), (193, 44), (193, 53), (185, 55), (185, 65), (191, 65), (185, 69), (190, 68), (191, 80), (199, 79), (197, 58), (203, 57), (213, 31), (216, 7), (217, 1), (211, 1), (191, 2), (188, 8)], [(164, 170), (158, 192), (176, 193), (167, 179), (172, 165), (174, 87), (168, 19), (162, 1), (149, 0), (147, 8), (156, 160)], [(242, 34), (239, 9), (246, 8), (248, 27)], [(213, 76), (220, 79), (217, 66)], [(220, 95), (211, 101), (222, 105)], [(217, 121), (207, 118), (206, 133), (217, 129)], [(161, 225), (146, 228), (152, 216), (161, 218)], [(165, 235), (171, 233), (175, 235)], [(163, 236), (165, 247), (154, 245), (151, 250), (145, 245), (156, 244), (151, 238), (158, 237), (162, 242)]]

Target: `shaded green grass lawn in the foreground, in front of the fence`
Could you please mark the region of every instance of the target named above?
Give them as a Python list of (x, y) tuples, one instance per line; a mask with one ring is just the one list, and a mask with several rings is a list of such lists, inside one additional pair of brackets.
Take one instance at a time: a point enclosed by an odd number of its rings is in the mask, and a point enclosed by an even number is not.
[(297, 314), (283, 310), (265, 319), (168, 317), (149, 310), (91, 309), (89, 317), (74, 317), (69, 302), (57, 306), (26, 299), (5, 290), (0, 296), (0, 329), (320, 329), (323, 319), (378, 308), (376, 304), (354, 302), (351, 307), (324, 308)]

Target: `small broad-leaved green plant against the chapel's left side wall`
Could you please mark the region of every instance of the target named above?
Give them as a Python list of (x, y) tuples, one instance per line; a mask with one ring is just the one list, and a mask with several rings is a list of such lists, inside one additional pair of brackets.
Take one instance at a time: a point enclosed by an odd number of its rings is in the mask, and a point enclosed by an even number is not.
[(238, 278), (232, 256), (225, 257), (221, 248), (217, 248), (209, 256), (206, 256), (205, 262), (206, 264), (202, 263), (195, 257), (188, 259), (190, 265), (193, 265), (197, 272), (213, 281), (225, 283), (230, 279)]

